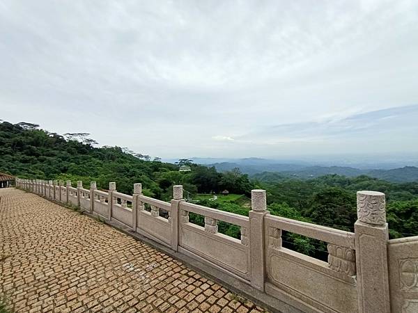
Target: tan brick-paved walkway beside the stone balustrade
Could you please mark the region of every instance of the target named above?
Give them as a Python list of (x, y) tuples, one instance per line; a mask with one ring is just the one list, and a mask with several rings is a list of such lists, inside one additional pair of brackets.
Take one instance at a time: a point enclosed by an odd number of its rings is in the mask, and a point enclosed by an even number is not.
[(264, 312), (145, 243), (0, 189), (0, 295), (15, 312)]

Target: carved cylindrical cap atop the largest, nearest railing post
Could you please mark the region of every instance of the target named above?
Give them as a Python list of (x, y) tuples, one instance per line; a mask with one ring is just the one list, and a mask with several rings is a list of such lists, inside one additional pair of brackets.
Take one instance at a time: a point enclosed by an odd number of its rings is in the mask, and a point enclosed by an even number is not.
[(376, 191), (357, 193), (357, 217), (363, 223), (384, 225), (386, 223), (385, 195)]

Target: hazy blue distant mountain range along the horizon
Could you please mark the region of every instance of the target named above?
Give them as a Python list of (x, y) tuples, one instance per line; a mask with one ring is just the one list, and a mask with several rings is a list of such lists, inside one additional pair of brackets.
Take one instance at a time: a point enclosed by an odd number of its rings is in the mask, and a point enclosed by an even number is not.
[[(246, 161), (244, 161), (246, 160)], [(252, 177), (256, 174), (265, 172), (277, 173), (279, 177), (295, 177), (295, 178), (314, 178), (323, 175), (337, 174), (348, 177), (356, 177), (359, 175), (367, 175), (379, 179), (385, 179), (389, 182), (418, 182), (418, 167), (404, 166), (402, 168), (392, 169), (359, 169), (350, 166), (304, 166), (300, 163), (269, 163), (268, 160), (261, 159), (242, 159), (241, 162), (220, 162), (207, 164), (207, 166), (215, 166), (219, 172), (240, 168), (241, 172)]]

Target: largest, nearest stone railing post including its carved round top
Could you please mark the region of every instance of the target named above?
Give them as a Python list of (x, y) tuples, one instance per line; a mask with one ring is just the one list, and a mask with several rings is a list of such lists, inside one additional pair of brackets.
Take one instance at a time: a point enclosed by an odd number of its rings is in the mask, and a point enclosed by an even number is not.
[(359, 313), (390, 313), (384, 193), (357, 192), (354, 229)]

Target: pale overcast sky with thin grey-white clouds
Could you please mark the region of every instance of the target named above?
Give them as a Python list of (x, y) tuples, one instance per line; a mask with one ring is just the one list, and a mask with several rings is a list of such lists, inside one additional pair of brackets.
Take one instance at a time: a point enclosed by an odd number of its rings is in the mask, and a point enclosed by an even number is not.
[(164, 158), (418, 153), (418, 1), (0, 1), (0, 118)]

